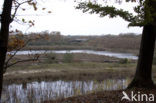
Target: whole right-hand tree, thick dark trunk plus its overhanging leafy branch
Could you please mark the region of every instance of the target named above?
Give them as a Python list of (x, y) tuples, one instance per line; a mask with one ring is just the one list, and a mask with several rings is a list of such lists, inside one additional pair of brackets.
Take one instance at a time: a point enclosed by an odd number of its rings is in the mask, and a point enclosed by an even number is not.
[[(121, 2), (121, 0), (116, 1)], [(156, 0), (126, 0), (126, 2), (139, 3), (134, 8), (134, 12), (137, 15), (113, 6), (102, 6), (96, 0), (94, 2), (81, 2), (76, 8), (81, 9), (83, 12), (99, 14), (100, 17), (109, 16), (110, 18), (114, 18), (120, 16), (129, 22), (128, 26), (143, 27), (136, 73), (128, 88), (154, 88), (155, 86), (152, 81), (152, 61), (156, 38)]]

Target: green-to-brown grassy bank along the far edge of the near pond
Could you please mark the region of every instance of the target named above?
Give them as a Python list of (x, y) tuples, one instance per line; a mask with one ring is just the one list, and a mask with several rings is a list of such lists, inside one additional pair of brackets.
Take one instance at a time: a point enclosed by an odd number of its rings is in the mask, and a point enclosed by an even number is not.
[[(52, 63), (16, 65), (4, 74), (4, 82), (21, 83), (42, 80), (103, 80), (132, 77), (135, 63)], [(21, 67), (23, 69), (21, 69)]]

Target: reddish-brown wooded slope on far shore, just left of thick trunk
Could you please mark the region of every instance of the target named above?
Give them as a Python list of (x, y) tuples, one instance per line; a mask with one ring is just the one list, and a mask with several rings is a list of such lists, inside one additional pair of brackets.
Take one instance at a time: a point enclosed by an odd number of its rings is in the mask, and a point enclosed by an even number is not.
[(94, 37), (88, 41), (88, 45), (98, 48), (114, 48), (114, 49), (139, 49), (141, 35), (120, 34), (120, 35), (104, 35)]

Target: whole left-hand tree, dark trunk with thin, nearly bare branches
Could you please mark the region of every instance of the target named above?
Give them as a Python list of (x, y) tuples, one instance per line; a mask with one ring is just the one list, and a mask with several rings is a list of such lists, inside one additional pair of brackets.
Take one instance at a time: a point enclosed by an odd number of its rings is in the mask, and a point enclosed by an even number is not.
[[(9, 25), (10, 23), (15, 19), (16, 13), (18, 8), (22, 5), (28, 3), (29, 5), (33, 6), (34, 10), (37, 9), (36, 4), (37, 2), (35, 0), (4, 0), (3, 3), (3, 9), (2, 14), (0, 15), (0, 21), (1, 21), (1, 29), (0, 29), (0, 101), (1, 101), (1, 93), (2, 93), (2, 85), (3, 85), (3, 72), (4, 69), (8, 66), (14, 65), (10, 64), (8, 65), (11, 58), (6, 62), (6, 54), (8, 49), (8, 38), (9, 38)], [(11, 13), (12, 7), (14, 5), (14, 12)], [(34, 25), (33, 22), (29, 22), (30, 24)], [(16, 54), (16, 53), (15, 53)]]

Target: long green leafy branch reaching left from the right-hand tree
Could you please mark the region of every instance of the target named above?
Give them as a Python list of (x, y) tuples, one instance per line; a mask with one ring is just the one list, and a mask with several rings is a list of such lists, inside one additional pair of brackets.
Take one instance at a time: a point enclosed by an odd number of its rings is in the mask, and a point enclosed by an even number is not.
[[(128, 11), (124, 11), (123, 9), (116, 9), (113, 6), (102, 6), (100, 4), (94, 4), (92, 2), (81, 2), (78, 4), (76, 9), (80, 9), (83, 12), (89, 12), (90, 14), (99, 14), (100, 17), (109, 16), (110, 18), (115, 18), (120, 16), (125, 21), (130, 22), (129, 26), (143, 26), (144, 18), (142, 15), (134, 16), (132, 13)], [(136, 13), (140, 13), (141, 7), (138, 6), (136, 8)]]

